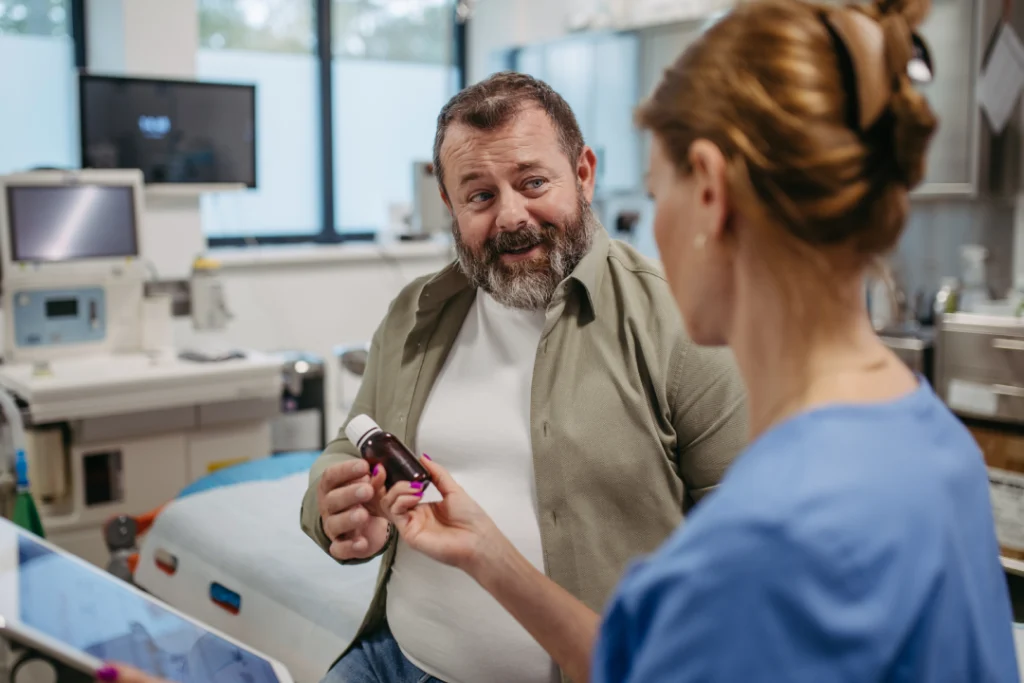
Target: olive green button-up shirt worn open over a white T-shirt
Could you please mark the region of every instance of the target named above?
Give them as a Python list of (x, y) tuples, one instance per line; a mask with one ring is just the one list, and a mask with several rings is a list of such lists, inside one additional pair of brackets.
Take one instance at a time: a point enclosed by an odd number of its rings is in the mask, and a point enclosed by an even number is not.
[[(370, 415), (418, 453), (420, 416), (474, 296), (456, 263), (409, 285), (374, 335), (350, 417)], [(548, 306), (530, 415), (545, 570), (595, 611), (746, 438), (731, 353), (690, 342), (658, 266), (602, 229)], [(325, 551), (319, 477), (355, 457), (342, 430), (309, 473), (302, 528)], [(394, 551), (392, 539), (360, 635), (383, 623)]]

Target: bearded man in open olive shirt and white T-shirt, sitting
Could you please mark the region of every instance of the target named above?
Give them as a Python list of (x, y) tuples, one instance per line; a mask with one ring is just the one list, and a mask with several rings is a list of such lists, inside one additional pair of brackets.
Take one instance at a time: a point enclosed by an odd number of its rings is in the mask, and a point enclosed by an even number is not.
[[(430, 454), (599, 610), (715, 487), (746, 428), (729, 352), (686, 339), (659, 268), (591, 211), (596, 168), (568, 104), (528, 76), (499, 74), (444, 106), (434, 170), (459, 258), (391, 304), (352, 416)], [(383, 559), (327, 681), (559, 679), (468, 574), (397, 540), (374, 497), (342, 433), (310, 472), (302, 527), (341, 564)]]

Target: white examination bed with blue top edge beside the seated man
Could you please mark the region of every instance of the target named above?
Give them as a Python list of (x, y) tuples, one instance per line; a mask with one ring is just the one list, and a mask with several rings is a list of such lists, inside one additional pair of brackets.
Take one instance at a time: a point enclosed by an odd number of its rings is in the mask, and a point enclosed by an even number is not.
[(135, 582), (165, 602), (323, 678), (355, 636), (378, 561), (339, 566), (299, 527), (317, 454), (237, 465), (166, 505), (143, 537)]

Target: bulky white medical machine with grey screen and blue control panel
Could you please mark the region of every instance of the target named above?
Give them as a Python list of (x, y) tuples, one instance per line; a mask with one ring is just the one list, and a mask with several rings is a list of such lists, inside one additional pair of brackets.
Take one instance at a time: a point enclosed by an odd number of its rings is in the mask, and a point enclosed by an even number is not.
[(280, 358), (145, 343), (144, 215), (137, 170), (0, 177), (0, 387), (24, 407), (48, 538), (97, 565), (109, 518), (269, 456), (280, 413)]

